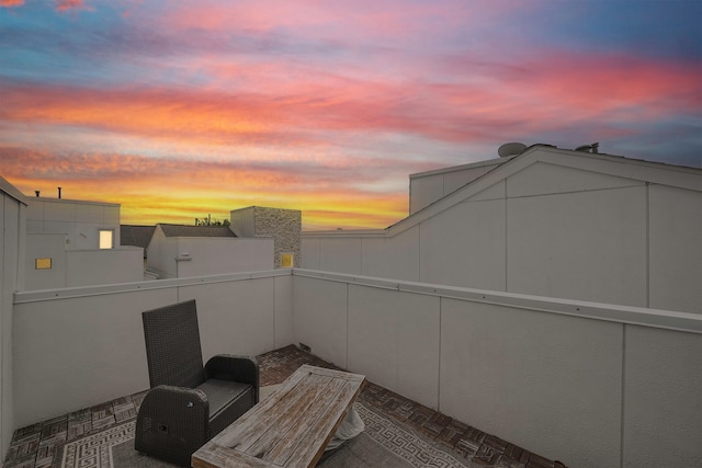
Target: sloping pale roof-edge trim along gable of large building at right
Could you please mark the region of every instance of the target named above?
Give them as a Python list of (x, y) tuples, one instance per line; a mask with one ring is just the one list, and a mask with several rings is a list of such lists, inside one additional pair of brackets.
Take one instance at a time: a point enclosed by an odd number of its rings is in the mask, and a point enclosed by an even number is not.
[(496, 165), (489, 172), (458, 187), (453, 193), (401, 219), (383, 232), (390, 237), (404, 232), (412, 226), (539, 162), (702, 192), (702, 169), (649, 162), (607, 153), (559, 149), (551, 145), (533, 145), (518, 156), (506, 158), (506, 162)]

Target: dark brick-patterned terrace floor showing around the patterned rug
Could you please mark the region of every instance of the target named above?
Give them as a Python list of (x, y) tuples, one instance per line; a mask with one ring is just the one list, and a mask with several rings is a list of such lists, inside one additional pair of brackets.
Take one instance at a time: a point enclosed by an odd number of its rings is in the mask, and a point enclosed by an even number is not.
[[(303, 364), (339, 369), (294, 345), (264, 353), (258, 356), (258, 361), (261, 386), (281, 384)], [(60, 467), (66, 443), (135, 419), (145, 395), (146, 390), (16, 430), (3, 466)], [(359, 399), (401, 422), (407, 429), (453, 450), (456, 458), (467, 458), (475, 465), (565, 468), (559, 461), (532, 454), (373, 383), (366, 384)]]

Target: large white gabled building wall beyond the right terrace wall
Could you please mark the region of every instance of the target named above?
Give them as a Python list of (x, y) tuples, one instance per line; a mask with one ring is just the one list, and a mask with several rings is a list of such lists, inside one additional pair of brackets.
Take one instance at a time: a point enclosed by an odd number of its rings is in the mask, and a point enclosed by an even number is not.
[(702, 313), (699, 171), (531, 158), (382, 235), (306, 232), (303, 267)]

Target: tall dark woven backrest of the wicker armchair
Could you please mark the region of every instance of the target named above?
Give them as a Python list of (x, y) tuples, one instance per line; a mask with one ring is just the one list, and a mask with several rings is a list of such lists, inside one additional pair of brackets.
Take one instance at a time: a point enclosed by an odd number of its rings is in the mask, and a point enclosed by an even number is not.
[(205, 379), (195, 300), (141, 312), (152, 387), (194, 388)]

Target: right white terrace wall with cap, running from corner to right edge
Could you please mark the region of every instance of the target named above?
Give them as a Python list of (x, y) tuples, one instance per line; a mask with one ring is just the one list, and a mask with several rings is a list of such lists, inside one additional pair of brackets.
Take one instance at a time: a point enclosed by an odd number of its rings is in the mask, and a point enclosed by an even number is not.
[(567, 466), (702, 463), (697, 315), (312, 271), (293, 299), (314, 354)]

